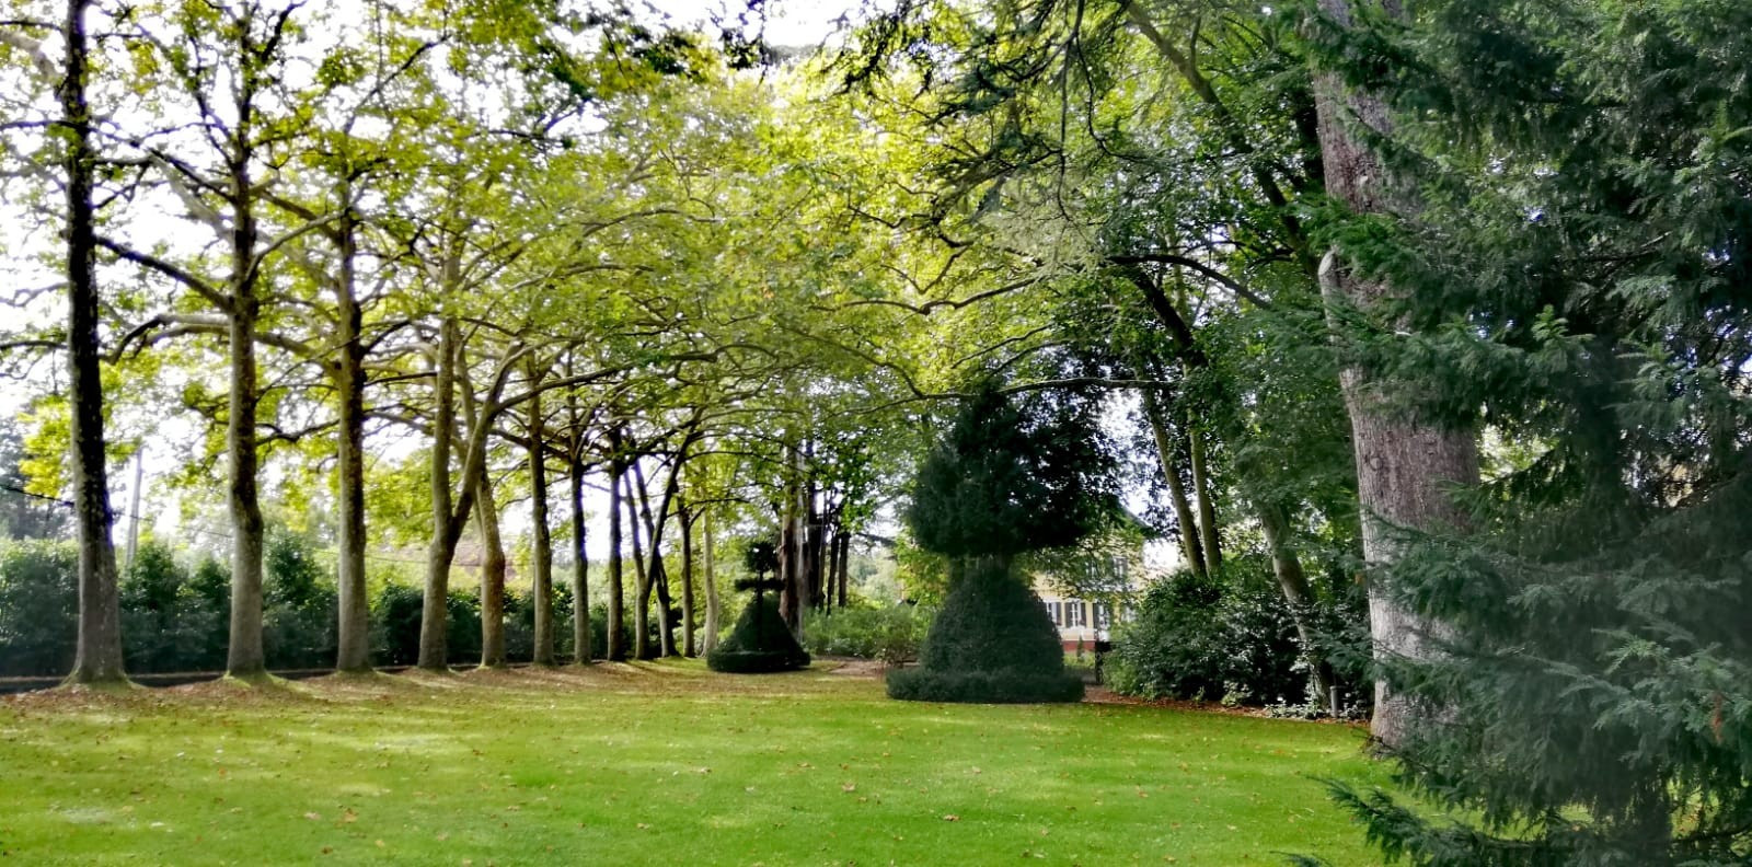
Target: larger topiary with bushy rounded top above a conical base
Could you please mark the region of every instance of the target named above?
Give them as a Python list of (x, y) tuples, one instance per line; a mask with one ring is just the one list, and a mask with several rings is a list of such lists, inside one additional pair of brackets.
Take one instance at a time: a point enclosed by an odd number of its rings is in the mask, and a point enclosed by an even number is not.
[(950, 596), (916, 669), (888, 674), (888, 695), (913, 701), (1046, 702), (1083, 699), (1058, 631), (1013, 559), (1074, 545), (1111, 515), (1113, 461), (1097, 403), (1037, 394), (1028, 405), (995, 385), (962, 406), (920, 466), (908, 525), (920, 546), (953, 559)]

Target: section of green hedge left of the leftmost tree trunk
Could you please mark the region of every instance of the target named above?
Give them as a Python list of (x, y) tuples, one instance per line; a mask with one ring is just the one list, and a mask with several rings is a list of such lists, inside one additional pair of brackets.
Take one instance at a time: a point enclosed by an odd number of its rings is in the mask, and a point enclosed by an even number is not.
[(0, 541), (0, 676), (72, 671), (77, 576), (70, 541)]

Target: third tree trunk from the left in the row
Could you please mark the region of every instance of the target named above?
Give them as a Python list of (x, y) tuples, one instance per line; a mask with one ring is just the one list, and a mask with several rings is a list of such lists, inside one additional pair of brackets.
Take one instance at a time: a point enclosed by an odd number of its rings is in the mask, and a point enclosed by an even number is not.
[(364, 312), (357, 296), (352, 191), (343, 187), (340, 196), (349, 212), (336, 228), (340, 273), (335, 280), (335, 307), (340, 319), (340, 352), (335, 354), (331, 366), (340, 401), (335, 448), (335, 494), (340, 501), (335, 667), (370, 671), (371, 615), (364, 590)]

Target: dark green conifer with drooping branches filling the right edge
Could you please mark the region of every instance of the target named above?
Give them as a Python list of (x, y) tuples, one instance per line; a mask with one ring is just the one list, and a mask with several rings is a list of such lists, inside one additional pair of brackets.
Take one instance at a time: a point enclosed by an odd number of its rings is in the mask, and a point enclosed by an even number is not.
[(1470, 522), (1398, 532), (1389, 574), (1437, 653), (1384, 673), (1442, 708), (1389, 755), (1458, 818), (1340, 797), (1421, 865), (1745, 863), (1752, 18), (1351, 12), (1310, 33), (1412, 201), (1335, 231), (1396, 287), (1356, 352), (1491, 447)]

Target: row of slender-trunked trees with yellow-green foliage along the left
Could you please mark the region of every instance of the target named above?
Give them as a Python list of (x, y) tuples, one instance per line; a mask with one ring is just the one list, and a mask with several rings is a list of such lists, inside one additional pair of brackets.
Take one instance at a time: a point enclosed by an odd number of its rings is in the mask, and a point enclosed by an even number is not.
[[(35, 406), (51, 457), (32, 483), (79, 511), (75, 681), (123, 676), (105, 422), (130, 417), (131, 447), (166, 408), (200, 436), (180, 483), (224, 466), (235, 676), (263, 669), (265, 478), (333, 515), (340, 669), (370, 666), (368, 546), (415, 536), (420, 664), (445, 664), (468, 532), (485, 552), (482, 664), (505, 660), (506, 497), (529, 501), (536, 660), (552, 662), (554, 475), (578, 606), (585, 501), (608, 496), (610, 659), (694, 652), (697, 587), (717, 634), (715, 585), (696, 582), (715, 517), (783, 527), (792, 624), (846, 603), (883, 469), (872, 434), (839, 420), (855, 352), (787, 315), (878, 250), (811, 249), (822, 226), (794, 217), (815, 168), (762, 147), (799, 130), (734, 68), (734, 39), (562, 4), (389, 2), (77, 2), (32, 7), (5, 37), (33, 84), (9, 105), (12, 201), (65, 236), (46, 259), (67, 305), (14, 301), (72, 319), (39, 317), (7, 350), (25, 370), (67, 352), (74, 371)], [(589, 618), (573, 624), (589, 646)]]

